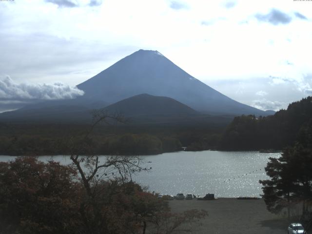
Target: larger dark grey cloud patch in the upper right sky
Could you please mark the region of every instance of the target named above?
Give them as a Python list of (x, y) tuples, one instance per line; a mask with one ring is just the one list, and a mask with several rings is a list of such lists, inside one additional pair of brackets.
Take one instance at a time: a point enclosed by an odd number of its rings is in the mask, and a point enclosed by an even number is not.
[(255, 15), (255, 18), (259, 21), (269, 22), (273, 25), (288, 24), (292, 21), (290, 16), (277, 9), (272, 9), (271, 12), (266, 15), (257, 14)]

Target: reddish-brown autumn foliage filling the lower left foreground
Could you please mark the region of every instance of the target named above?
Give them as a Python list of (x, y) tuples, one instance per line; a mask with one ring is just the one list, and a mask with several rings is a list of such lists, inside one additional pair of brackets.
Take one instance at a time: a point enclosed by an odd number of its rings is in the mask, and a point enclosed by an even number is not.
[(166, 201), (117, 177), (90, 184), (91, 195), (73, 166), (54, 161), (1, 162), (0, 234), (165, 234), (207, 215), (172, 214)]

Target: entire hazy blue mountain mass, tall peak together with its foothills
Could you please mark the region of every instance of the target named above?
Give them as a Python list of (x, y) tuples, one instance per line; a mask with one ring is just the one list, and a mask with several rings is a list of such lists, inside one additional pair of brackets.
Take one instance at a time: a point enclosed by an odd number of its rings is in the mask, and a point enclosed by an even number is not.
[[(184, 116), (195, 115), (196, 112), (231, 116), (273, 114), (226, 97), (152, 50), (139, 50), (77, 87), (84, 91), (83, 96), (35, 103), (18, 111), (1, 114), (0, 119), (33, 117), (34, 120), (44, 121), (66, 117), (81, 120), (88, 118), (90, 114), (87, 111), (108, 105), (111, 106), (107, 110), (123, 112), (126, 117), (159, 116), (161, 112), (173, 117), (178, 117), (182, 112)], [(127, 100), (121, 101), (123, 99)]]

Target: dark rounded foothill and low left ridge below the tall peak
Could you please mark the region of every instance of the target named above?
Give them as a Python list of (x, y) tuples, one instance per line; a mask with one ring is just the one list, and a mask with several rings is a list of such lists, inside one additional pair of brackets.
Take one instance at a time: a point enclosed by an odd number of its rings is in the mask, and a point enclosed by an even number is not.
[(0, 114), (0, 120), (11, 122), (90, 122), (93, 109), (103, 109), (109, 114), (121, 114), (131, 118), (132, 123), (192, 122), (197, 113), (173, 98), (140, 94), (106, 106), (105, 102), (83, 102), (77, 100), (42, 102), (16, 111)]

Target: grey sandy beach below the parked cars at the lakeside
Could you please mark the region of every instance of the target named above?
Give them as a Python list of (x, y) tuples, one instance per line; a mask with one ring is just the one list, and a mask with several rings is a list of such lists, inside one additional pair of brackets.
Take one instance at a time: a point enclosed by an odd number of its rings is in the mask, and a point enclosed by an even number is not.
[[(172, 200), (169, 205), (173, 212), (191, 209), (206, 210), (208, 217), (202, 225), (192, 225), (182, 229), (196, 234), (286, 234), (291, 222), (282, 215), (267, 211), (262, 199), (238, 200), (218, 198), (217, 200)], [(311, 233), (311, 232), (310, 232)]]

